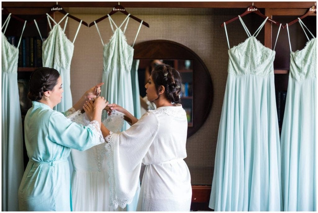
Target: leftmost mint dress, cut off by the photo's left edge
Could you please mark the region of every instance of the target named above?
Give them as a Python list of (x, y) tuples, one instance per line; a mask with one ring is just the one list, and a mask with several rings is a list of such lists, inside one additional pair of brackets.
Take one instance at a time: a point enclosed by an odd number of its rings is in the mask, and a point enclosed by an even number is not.
[[(3, 24), (1, 39), (2, 86), (1, 86), (1, 155), (2, 155), (2, 211), (18, 211), (18, 188), (21, 182), (23, 165), (22, 120), (17, 83), (18, 57), (21, 37), (17, 47), (11, 45), (4, 33), (11, 13)], [(3, 29), (2, 27), (2, 29)]]

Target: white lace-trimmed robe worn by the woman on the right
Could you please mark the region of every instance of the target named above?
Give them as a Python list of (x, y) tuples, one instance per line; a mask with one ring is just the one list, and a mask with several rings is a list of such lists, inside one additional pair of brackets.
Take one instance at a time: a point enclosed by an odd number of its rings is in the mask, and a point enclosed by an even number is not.
[(186, 154), (188, 122), (180, 104), (159, 107), (120, 134), (105, 140), (110, 204), (129, 204), (136, 190), (141, 163), (146, 165), (137, 211), (189, 211), (190, 172)]

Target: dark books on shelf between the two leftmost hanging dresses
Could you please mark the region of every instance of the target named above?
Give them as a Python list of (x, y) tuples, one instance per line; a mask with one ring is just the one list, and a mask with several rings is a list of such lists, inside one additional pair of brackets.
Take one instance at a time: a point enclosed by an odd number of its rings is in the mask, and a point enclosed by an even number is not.
[[(17, 47), (18, 38), (7, 36), (10, 44)], [(42, 40), (37, 37), (22, 37), (19, 46), (19, 67), (41, 67), (42, 66)]]

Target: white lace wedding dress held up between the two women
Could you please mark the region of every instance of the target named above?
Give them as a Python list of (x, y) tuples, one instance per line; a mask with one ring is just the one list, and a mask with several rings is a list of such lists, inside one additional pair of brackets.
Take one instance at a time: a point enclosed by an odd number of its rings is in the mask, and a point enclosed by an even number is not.
[[(116, 133), (121, 129), (123, 113), (113, 110), (103, 121), (104, 125)], [(86, 126), (89, 120), (86, 113), (77, 111), (68, 116), (72, 121)], [(105, 143), (94, 146), (86, 151), (72, 149), (72, 204), (73, 211), (114, 211), (109, 207), (109, 183)], [(126, 211), (118, 208), (115, 211)]]

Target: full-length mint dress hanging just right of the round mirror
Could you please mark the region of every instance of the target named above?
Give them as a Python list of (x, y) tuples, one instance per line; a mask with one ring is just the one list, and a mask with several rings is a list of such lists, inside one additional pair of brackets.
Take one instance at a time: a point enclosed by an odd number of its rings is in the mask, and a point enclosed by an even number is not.
[(267, 18), (251, 35), (239, 16), (248, 38), (232, 48), (228, 42), (228, 77), (209, 203), (215, 211), (280, 211), (275, 51), (256, 39)]

